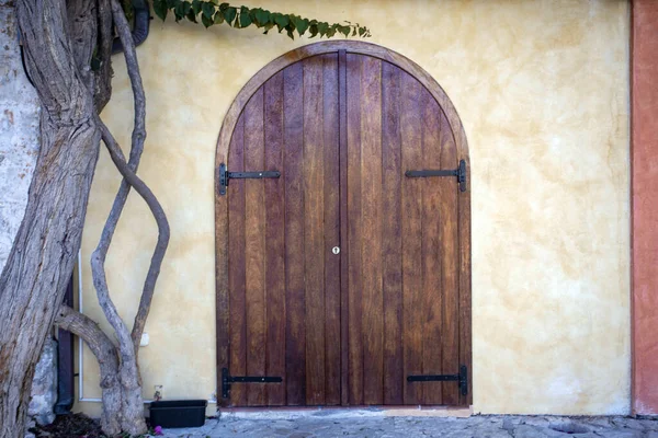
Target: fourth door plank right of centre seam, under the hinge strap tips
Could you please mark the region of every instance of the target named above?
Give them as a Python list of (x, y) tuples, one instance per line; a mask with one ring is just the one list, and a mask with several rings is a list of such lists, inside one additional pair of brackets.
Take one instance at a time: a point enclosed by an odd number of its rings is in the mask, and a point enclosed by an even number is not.
[[(407, 73), (400, 78), (400, 131), (402, 171), (423, 169), (421, 143), (420, 83)], [(407, 376), (422, 373), (422, 181), (402, 178), (402, 336), (405, 404), (422, 401), (422, 384)]]

